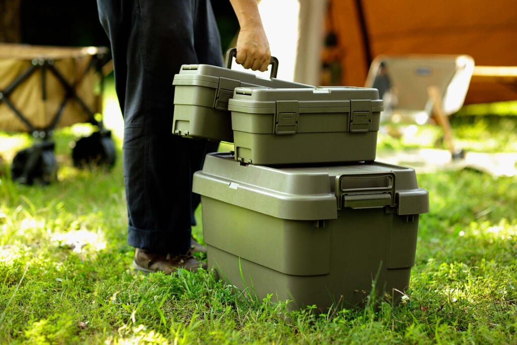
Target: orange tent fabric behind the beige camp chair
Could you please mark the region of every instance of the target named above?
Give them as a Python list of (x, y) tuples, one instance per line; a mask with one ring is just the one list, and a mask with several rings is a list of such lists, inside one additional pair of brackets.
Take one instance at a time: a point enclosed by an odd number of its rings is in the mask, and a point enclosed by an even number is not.
[[(513, 0), (329, 0), (327, 34), (342, 85), (363, 86), (379, 54), (468, 54), (476, 66), (517, 66)], [(327, 35), (328, 37), (328, 35)], [(465, 103), (517, 100), (517, 83), (473, 79)]]

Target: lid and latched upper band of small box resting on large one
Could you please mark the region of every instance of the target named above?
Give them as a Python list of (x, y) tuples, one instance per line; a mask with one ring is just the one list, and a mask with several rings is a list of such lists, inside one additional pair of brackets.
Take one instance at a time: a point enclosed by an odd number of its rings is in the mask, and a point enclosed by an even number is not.
[(228, 104), (233, 130), (257, 134), (378, 131), (384, 109), (377, 89), (345, 86), (237, 87)]

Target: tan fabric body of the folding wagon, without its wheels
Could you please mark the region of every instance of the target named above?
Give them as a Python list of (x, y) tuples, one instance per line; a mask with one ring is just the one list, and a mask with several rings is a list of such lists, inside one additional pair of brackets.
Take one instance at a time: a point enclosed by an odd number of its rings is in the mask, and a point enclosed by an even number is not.
[(107, 52), (97, 47), (0, 44), (0, 129), (45, 131), (89, 122), (101, 112), (95, 67)]

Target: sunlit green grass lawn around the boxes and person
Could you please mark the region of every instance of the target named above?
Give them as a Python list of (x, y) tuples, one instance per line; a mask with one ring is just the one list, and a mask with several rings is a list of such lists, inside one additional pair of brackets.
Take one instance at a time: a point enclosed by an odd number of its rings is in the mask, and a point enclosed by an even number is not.
[[(515, 152), (517, 119), (501, 121), (452, 118), (467, 149)], [(233, 293), (212, 272), (133, 273), (120, 148), (109, 173), (72, 168), (69, 142), (86, 129), (57, 131), (59, 182), (45, 187), (10, 181), (12, 152), (30, 140), (0, 133), (0, 343), (517, 343), (515, 176), (419, 174), (431, 212), (420, 218), (407, 298), (290, 312), (287, 302)], [(431, 146), (439, 133), (422, 130)], [(202, 238), (201, 226), (193, 231)]]

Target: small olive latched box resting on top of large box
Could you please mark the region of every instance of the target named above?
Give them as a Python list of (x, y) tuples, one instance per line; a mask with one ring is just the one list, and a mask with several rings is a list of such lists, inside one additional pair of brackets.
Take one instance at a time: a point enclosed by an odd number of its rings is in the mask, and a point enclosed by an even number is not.
[(236, 88), (235, 158), (260, 164), (375, 160), (383, 101), (374, 88)]

